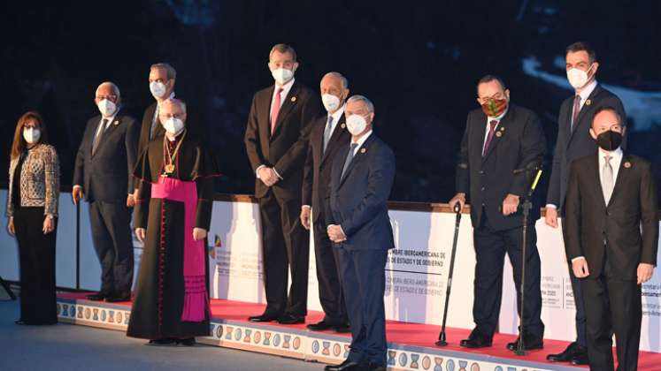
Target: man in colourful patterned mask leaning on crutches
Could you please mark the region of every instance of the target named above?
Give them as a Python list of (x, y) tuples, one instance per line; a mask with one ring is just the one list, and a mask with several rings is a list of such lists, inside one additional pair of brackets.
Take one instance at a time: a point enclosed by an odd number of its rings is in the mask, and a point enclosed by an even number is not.
[[(546, 140), (539, 119), (531, 110), (510, 104), (510, 91), (502, 79), (485, 76), (477, 86), (481, 110), (468, 114), (457, 163), (457, 195), (450, 205), (464, 207), (466, 193), (471, 201), (475, 244), (475, 288), (473, 320), (476, 327), (461, 345), (490, 346), (503, 293), (503, 261), (510, 256), (517, 294), (525, 299), (526, 349), (542, 348), (544, 324), (540, 318), (540, 257), (534, 221), (539, 208), (531, 211), (526, 239), (526, 287), (520, 292), (523, 216), (521, 199), (530, 186), (531, 170), (541, 166)], [(517, 342), (507, 347), (516, 349)]]

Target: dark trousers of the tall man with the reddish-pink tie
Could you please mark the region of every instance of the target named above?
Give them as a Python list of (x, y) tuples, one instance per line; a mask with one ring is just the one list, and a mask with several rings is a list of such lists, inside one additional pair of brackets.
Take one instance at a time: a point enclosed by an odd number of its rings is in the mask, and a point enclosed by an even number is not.
[[(273, 190), (259, 199), (267, 314), (306, 315), (310, 234), (301, 224), (301, 201)], [(287, 294), (288, 269), (291, 285)]]

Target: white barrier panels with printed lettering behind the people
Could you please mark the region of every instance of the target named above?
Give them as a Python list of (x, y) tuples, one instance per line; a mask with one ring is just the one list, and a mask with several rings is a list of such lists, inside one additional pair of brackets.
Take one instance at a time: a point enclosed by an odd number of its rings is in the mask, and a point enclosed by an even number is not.
[[(6, 190), (0, 190), (2, 208)], [(75, 284), (75, 208), (70, 193), (60, 195), (58, 225), (57, 283), (73, 288)], [(440, 212), (389, 212), (396, 249), (388, 254), (385, 295), (388, 319), (440, 324), (455, 215)], [(470, 217), (464, 215), (459, 229), (457, 261), (450, 297), (448, 325), (473, 328), (474, 250)], [(211, 297), (265, 303), (262, 283), (259, 210), (256, 203), (216, 201), (213, 204), (209, 233)], [(562, 232), (536, 223), (537, 246), (542, 259), (542, 321), (545, 337), (572, 341), (575, 337), (572, 286), (565, 262)], [(19, 280), (18, 249), (6, 229), (0, 232), (0, 276)], [(135, 269), (140, 266), (142, 247), (135, 241)], [(661, 263), (661, 261), (659, 261)], [(659, 264), (657, 263), (657, 266)], [(81, 288), (97, 290), (99, 262), (92, 246), (88, 204), (81, 207)], [(137, 277), (137, 272), (135, 274)], [(642, 285), (641, 349), (661, 352), (661, 275), (658, 269)], [(321, 310), (311, 246), (308, 307)], [(250, 315), (250, 314), (246, 314)], [(503, 304), (500, 331), (516, 333), (518, 315), (511, 266), (505, 259)]]

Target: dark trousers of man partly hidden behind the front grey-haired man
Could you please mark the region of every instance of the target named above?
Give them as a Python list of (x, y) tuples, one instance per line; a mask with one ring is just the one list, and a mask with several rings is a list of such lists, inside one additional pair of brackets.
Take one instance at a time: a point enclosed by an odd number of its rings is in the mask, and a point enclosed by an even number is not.
[(338, 252), (328, 239), (327, 226), (324, 216), (319, 213), (315, 216), (314, 228), (314, 256), (317, 264), (317, 281), (319, 282), (319, 302), (324, 309), (324, 322), (332, 324), (347, 323), (347, 309), (340, 284)]

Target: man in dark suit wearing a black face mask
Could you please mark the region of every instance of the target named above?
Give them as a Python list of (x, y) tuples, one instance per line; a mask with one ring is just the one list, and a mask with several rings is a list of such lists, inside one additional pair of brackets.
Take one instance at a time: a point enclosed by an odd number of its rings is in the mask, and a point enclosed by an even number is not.
[(619, 148), (624, 122), (615, 108), (595, 112), (599, 150), (575, 160), (565, 201), (566, 254), (582, 285), (590, 369), (633, 371), (641, 337), (641, 284), (657, 264), (657, 188), (649, 162)]

